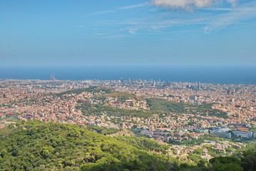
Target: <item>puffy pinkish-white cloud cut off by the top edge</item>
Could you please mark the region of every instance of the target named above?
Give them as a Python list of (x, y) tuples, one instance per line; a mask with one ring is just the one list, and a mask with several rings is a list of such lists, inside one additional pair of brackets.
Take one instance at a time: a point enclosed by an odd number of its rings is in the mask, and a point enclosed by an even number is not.
[[(237, 0), (225, 0), (235, 6)], [(152, 0), (156, 6), (166, 9), (200, 9), (222, 3), (222, 0)]]

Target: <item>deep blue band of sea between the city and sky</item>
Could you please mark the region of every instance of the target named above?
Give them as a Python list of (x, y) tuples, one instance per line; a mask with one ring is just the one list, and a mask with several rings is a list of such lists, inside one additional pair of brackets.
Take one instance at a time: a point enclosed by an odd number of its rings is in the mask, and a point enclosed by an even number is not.
[(0, 67), (0, 79), (120, 80), (256, 84), (255, 66), (19, 66)]

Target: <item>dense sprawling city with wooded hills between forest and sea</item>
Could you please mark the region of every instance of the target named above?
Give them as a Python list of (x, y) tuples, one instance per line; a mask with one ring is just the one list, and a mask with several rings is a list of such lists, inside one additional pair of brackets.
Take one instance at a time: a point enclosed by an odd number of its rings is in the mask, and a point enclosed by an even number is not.
[(167, 155), (209, 160), (255, 142), (255, 99), (256, 86), (243, 84), (2, 79), (0, 126), (41, 120), (127, 130), (168, 145)]

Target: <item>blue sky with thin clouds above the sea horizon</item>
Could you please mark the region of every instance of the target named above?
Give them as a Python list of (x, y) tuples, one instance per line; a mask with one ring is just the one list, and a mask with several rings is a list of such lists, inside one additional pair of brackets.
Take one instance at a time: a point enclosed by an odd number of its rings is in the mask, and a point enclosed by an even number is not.
[(256, 1), (0, 0), (0, 66), (256, 65)]

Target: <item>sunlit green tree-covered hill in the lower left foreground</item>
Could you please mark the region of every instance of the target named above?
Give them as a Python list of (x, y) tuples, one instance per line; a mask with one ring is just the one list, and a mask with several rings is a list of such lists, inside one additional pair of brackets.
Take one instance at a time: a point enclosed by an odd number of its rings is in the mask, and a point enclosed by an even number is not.
[(83, 126), (21, 120), (0, 130), (0, 170), (178, 170), (164, 155)]

